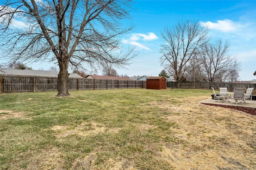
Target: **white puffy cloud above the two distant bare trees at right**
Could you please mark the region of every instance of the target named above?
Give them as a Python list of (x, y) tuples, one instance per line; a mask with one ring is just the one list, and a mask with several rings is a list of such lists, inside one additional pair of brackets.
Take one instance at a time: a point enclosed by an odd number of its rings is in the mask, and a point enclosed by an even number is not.
[(214, 22), (200, 22), (200, 24), (204, 27), (208, 27), (210, 30), (220, 30), (222, 32), (237, 32), (244, 26), (239, 22), (234, 22), (232, 20), (218, 20), (216, 23)]

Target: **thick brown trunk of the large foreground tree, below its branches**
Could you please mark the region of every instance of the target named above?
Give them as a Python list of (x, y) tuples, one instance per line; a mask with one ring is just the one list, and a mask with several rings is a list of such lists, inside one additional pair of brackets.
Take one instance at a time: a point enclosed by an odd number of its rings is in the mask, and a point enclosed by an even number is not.
[(59, 92), (58, 97), (70, 96), (68, 93), (68, 61), (59, 62), (60, 73), (58, 74), (59, 78)]

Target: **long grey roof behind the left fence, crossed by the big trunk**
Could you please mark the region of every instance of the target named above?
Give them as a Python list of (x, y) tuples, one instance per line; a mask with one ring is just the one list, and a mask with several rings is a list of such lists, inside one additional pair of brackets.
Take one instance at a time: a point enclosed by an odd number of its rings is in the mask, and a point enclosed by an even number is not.
[[(44, 71), (44, 70), (30, 70), (30, 69), (3, 69), (0, 74), (5, 75), (28, 75), (28, 76), (44, 76), (44, 77), (58, 77), (58, 72), (56, 71)], [(69, 78), (82, 78), (76, 73), (70, 73)]]

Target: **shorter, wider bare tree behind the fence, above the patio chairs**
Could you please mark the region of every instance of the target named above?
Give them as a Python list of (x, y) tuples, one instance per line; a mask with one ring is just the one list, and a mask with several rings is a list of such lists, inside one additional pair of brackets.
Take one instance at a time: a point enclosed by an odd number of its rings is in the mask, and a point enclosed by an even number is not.
[(228, 41), (223, 44), (220, 39), (201, 47), (197, 59), (204, 81), (233, 81), (239, 77), (240, 62), (228, 54), (229, 45)]

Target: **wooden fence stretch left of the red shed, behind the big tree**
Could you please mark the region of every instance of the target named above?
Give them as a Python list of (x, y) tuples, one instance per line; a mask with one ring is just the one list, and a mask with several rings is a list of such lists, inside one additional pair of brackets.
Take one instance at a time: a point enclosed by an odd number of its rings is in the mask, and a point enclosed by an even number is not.
[[(0, 93), (58, 91), (58, 77), (0, 75)], [(69, 90), (146, 88), (146, 81), (69, 78)]]

